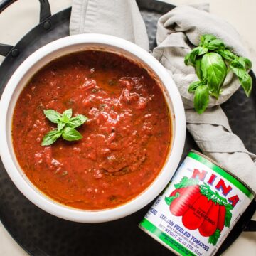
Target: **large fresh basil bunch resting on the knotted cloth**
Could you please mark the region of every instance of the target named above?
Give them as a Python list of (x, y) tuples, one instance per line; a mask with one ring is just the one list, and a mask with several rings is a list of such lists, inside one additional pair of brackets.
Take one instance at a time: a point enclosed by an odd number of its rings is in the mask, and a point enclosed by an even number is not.
[(210, 96), (218, 99), (229, 70), (238, 77), (247, 97), (252, 92), (252, 78), (248, 74), (252, 62), (232, 53), (213, 35), (201, 36), (199, 46), (185, 56), (184, 62), (196, 69), (199, 78), (188, 87), (188, 92), (195, 94), (193, 102), (198, 114), (206, 110)]

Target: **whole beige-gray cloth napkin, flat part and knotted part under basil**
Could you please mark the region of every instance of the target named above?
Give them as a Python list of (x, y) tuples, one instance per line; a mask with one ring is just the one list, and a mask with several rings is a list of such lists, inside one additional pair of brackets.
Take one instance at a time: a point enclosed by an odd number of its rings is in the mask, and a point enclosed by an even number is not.
[[(146, 27), (135, 0), (73, 0), (70, 34), (104, 33), (125, 38), (149, 50)], [(245, 149), (233, 134), (219, 106), (238, 90), (239, 82), (230, 73), (219, 100), (210, 100), (209, 108), (199, 115), (193, 110), (193, 95), (188, 85), (198, 80), (184, 56), (197, 46), (199, 37), (212, 33), (222, 38), (235, 53), (248, 57), (238, 33), (230, 24), (208, 13), (208, 5), (178, 6), (161, 16), (157, 27), (157, 47), (153, 55), (176, 82), (186, 108), (186, 122), (204, 154), (215, 159), (256, 193), (256, 156)]]

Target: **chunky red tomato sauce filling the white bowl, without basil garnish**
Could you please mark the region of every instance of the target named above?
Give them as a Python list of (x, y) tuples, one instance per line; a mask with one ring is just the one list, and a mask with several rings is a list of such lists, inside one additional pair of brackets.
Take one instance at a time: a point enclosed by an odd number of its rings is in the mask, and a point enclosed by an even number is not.
[[(43, 110), (73, 109), (89, 119), (77, 142), (41, 146), (56, 127)], [(171, 141), (159, 85), (113, 53), (85, 51), (54, 60), (16, 102), (12, 137), (21, 169), (43, 193), (73, 208), (114, 208), (142, 193), (161, 171)]]

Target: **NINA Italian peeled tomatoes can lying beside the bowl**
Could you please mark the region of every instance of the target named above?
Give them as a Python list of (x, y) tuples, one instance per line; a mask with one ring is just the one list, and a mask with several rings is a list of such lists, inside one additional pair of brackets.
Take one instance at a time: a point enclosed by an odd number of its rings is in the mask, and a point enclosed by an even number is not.
[(238, 178), (190, 151), (139, 227), (176, 255), (215, 255), (253, 198)]

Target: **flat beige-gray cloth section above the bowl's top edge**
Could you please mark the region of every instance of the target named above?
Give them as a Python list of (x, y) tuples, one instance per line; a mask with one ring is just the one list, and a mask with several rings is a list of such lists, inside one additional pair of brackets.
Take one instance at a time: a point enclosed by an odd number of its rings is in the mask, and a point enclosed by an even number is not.
[(102, 33), (149, 50), (146, 26), (135, 0), (73, 0), (70, 35)]

